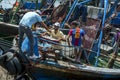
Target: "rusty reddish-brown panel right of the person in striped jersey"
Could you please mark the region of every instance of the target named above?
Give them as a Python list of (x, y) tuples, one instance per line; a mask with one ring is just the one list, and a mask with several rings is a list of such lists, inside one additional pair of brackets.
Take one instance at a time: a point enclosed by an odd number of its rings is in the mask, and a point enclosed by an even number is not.
[(100, 28), (100, 20), (88, 18), (86, 26), (82, 27), (85, 30), (85, 45), (84, 48), (91, 49)]

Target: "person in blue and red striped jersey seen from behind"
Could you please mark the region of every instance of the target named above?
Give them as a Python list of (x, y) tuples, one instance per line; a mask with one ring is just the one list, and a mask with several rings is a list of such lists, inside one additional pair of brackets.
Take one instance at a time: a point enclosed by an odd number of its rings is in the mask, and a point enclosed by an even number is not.
[[(81, 57), (81, 47), (84, 45), (85, 40), (85, 31), (80, 29), (80, 24), (77, 21), (73, 21), (72, 24), (75, 25), (75, 29), (70, 29), (67, 37), (68, 45), (70, 46), (70, 36), (71, 36), (71, 44), (74, 47), (75, 61), (80, 62)], [(80, 62), (81, 63), (81, 62)]]

